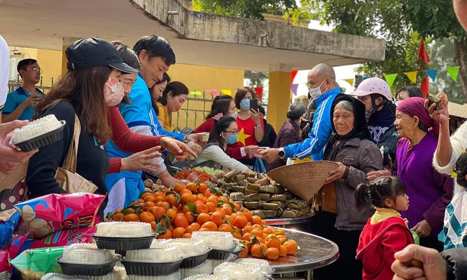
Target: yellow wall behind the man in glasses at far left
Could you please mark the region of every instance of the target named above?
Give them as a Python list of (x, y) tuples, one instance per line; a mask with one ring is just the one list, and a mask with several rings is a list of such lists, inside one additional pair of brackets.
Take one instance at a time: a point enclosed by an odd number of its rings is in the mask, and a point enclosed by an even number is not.
[[(50, 87), (52, 86), (52, 78), (54, 78), (54, 82), (56, 82), (56, 80), (60, 77), (62, 68), (62, 52), (44, 49), (20, 48), (14, 46), (10, 46), (9, 49), (17, 49), (19, 51), (28, 52), (30, 58), (37, 60), (39, 67), (43, 71), (41, 75), (42, 86)], [(14, 55), (10, 53), (10, 57), (27, 58), (27, 55)], [(40, 86), (40, 84), (38, 84), (38, 86)]]

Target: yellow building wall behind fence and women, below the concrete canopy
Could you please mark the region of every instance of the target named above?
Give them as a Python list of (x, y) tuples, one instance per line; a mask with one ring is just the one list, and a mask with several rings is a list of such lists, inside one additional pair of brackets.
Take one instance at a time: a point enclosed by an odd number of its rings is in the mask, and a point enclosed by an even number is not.
[[(210, 92), (205, 90), (216, 89), (220, 94), (222, 89), (230, 89), (234, 97), (237, 88), (243, 87), (244, 70), (235, 70), (217, 67), (205, 67), (186, 64), (175, 64), (167, 72), (172, 81), (185, 84), (190, 91), (201, 91), (203, 95), (188, 95), (188, 100), (183, 104), (179, 114), (172, 114), (172, 128), (195, 129), (205, 120), (205, 113), (211, 109), (214, 99)], [(197, 100), (198, 99), (198, 100)], [(209, 101), (205, 101), (208, 99)], [(188, 108), (188, 111), (186, 110)]]

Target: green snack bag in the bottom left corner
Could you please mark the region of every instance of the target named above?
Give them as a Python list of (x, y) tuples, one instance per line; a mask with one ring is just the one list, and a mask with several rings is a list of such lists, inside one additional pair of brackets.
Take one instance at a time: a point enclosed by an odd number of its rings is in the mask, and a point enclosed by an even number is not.
[(23, 280), (40, 280), (47, 273), (61, 273), (56, 259), (63, 247), (29, 249), (19, 254), (11, 264), (21, 273)]

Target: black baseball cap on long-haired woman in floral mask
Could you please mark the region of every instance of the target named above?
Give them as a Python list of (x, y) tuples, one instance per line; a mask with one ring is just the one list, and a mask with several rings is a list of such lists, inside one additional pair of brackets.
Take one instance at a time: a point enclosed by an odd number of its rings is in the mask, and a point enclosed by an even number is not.
[(84, 38), (72, 43), (67, 50), (68, 70), (110, 66), (123, 73), (138, 73), (138, 70), (123, 62), (117, 49), (101, 38)]

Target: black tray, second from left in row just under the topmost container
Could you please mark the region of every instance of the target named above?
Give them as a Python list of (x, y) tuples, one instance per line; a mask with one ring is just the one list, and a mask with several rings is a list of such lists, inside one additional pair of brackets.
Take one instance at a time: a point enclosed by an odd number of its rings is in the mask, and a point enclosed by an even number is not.
[(123, 258), (121, 262), (128, 275), (161, 276), (177, 272), (183, 259), (173, 262), (137, 262)]

